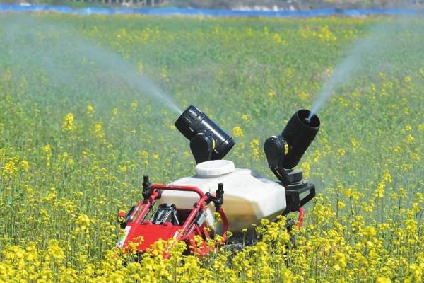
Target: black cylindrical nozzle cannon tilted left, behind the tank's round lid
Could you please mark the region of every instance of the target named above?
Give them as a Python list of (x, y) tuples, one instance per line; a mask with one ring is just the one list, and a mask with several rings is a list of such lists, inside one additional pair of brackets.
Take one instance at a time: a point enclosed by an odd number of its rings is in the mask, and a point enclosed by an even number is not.
[(222, 159), (235, 144), (230, 135), (193, 105), (182, 112), (175, 127), (189, 139), (196, 163)]

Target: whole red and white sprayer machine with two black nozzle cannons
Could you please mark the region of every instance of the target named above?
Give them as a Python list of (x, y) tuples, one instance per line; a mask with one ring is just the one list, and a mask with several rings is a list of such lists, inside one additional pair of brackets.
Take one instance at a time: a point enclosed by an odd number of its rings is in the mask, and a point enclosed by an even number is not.
[[(319, 125), (316, 115), (310, 117), (310, 111), (299, 110), (280, 135), (266, 139), (264, 151), (279, 180), (275, 182), (223, 160), (235, 145), (234, 139), (204, 112), (189, 106), (175, 127), (190, 141), (196, 174), (168, 185), (151, 184), (144, 176), (143, 200), (128, 213), (119, 214), (125, 233), (117, 246), (134, 246), (145, 252), (159, 239), (176, 238), (187, 243), (187, 253), (204, 255), (211, 250), (208, 238), (220, 235), (218, 243), (225, 243), (227, 231), (237, 235), (263, 218), (275, 221), (278, 215), (299, 212), (298, 226), (302, 225), (303, 205), (315, 196), (315, 186), (294, 168)], [(214, 212), (220, 216), (218, 224)]]

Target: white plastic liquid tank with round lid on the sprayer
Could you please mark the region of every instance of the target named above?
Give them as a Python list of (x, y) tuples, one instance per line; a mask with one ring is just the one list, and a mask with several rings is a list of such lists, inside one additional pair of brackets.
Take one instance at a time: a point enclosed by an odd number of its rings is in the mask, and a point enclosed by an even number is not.
[[(276, 219), (285, 209), (285, 188), (251, 169), (235, 168), (228, 160), (199, 163), (196, 175), (184, 177), (169, 185), (190, 185), (203, 192), (215, 193), (218, 183), (224, 184), (223, 209), (228, 218), (229, 230), (241, 231), (259, 224), (262, 218)], [(195, 192), (165, 190), (159, 203), (175, 204), (177, 208), (192, 209), (199, 200)], [(213, 202), (209, 204), (206, 221), (213, 224)]]

